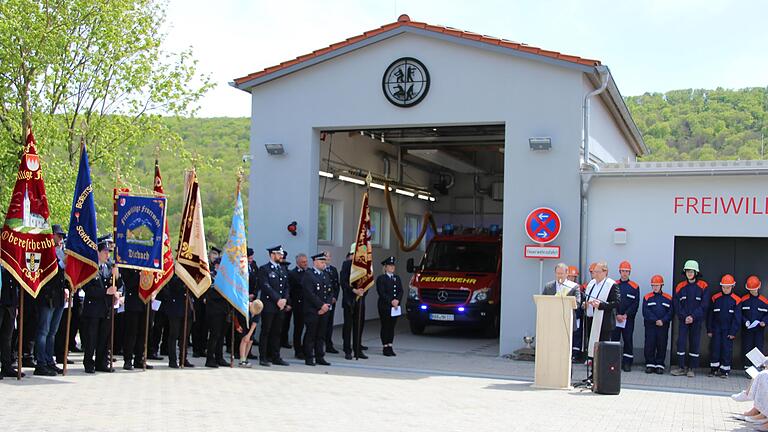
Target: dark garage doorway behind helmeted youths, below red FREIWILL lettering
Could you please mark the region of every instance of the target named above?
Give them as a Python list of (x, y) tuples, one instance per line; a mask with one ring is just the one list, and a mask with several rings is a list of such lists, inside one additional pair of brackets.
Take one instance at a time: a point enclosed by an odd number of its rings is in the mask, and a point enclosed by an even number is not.
[[(730, 273), (736, 278), (734, 292), (743, 296), (747, 294), (744, 284), (751, 275), (765, 281), (768, 277), (768, 238), (763, 237), (675, 237), (675, 279), (667, 288), (670, 292), (682, 280), (680, 269), (686, 260), (694, 259), (701, 267), (702, 279), (709, 284), (707, 294), (714, 295), (720, 291), (720, 278)], [(675, 351), (677, 341), (677, 319), (672, 328), (672, 350)], [(733, 347), (733, 366), (743, 367), (744, 356), (741, 347), (741, 337), (736, 338)], [(701, 365), (709, 364), (710, 339), (706, 330), (702, 333)], [(674, 355), (672, 364), (676, 363)]]

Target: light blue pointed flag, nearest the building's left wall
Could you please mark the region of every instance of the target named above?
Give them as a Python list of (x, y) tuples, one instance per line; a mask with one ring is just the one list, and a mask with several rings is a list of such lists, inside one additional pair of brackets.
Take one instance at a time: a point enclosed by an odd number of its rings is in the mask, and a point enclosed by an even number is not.
[[(235, 214), (232, 216), (232, 228), (229, 230), (229, 238), (221, 254), (221, 264), (219, 264), (219, 271), (216, 273), (214, 287), (236, 311), (245, 317), (247, 322), (249, 317), (246, 243), (243, 201), (240, 199), (240, 188), (238, 188)], [(247, 328), (245, 330), (247, 331)]]

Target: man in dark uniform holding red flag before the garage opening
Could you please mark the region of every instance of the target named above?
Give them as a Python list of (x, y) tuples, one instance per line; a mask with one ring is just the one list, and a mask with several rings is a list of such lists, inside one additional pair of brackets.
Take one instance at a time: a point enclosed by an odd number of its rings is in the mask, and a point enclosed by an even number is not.
[(357, 288), (357, 283), (350, 284), (349, 276), (352, 272), (352, 256), (355, 254), (356, 244), (352, 243), (347, 259), (341, 264), (339, 273), (339, 283), (342, 291), (342, 307), (344, 308), (344, 327), (342, 328), (342, 339), (344, 341), (344, 358), (352, 360), (354, 350), (355, 357), (358, 359), (367, 359), (368, 356), (363, 352), (368, 347), (360, 343), (365, 326), (365, 293)]

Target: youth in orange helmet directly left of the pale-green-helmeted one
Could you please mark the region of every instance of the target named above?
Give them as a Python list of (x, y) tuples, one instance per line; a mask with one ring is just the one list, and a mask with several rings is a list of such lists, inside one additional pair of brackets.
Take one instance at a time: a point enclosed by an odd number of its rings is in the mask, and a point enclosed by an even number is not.
[(672, 295), (662, 292), (664, 278), (651, 278), (652, 291), (643, 297), (643, 321), (645, 322), (645, 373), (664, 373), (667, 358), (669, 323), (672, 322)]

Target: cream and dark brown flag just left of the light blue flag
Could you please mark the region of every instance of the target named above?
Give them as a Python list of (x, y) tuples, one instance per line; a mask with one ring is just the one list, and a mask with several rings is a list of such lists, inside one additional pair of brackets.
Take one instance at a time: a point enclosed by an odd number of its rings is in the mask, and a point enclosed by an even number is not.
[(208, 245), (205, 243), (203, 226), (203, 204), (200, 201), (200, 187), (195, 171), (187, 172), (175, 268), (176, 275), (195, 297), (199, 298), (205, 294), (211, 286)]

